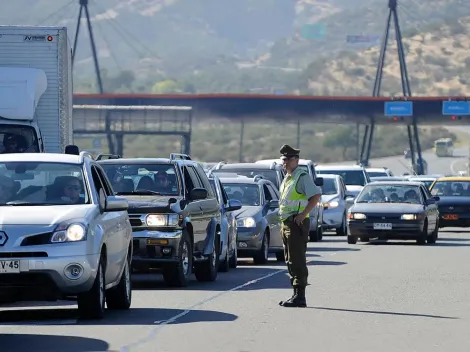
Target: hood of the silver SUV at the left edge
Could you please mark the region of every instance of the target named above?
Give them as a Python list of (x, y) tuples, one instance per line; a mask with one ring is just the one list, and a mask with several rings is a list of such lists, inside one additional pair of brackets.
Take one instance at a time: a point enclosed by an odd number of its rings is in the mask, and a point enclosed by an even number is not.
[(54, 225), (84, 219), (97, 205), (2, 206), (1, 225)]

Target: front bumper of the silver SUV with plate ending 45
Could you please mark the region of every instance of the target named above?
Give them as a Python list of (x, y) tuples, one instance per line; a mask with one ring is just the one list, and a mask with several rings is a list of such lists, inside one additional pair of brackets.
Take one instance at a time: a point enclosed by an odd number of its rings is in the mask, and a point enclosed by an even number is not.
[[(19, 273), (0, 274), (0, 296), (13, 296), (18, 300), (57, 299), (89, 291), (93, 285), (100, 254), (84, 256), (57, 256), (41, 258), (0, 258), (18, 260)], [(70, 266), (80, 268), (75, 278), (66, 272)]]

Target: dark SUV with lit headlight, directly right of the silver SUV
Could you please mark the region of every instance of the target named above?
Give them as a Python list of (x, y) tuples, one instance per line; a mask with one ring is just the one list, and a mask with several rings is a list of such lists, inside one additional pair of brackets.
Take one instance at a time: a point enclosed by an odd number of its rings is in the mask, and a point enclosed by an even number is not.
[(169, 286), (215, 281), (220, 208), (204, 170), (188, 155), (122, 159), (99, 156), (116, 194), (129, 202), (136, 270), (161, 269)]

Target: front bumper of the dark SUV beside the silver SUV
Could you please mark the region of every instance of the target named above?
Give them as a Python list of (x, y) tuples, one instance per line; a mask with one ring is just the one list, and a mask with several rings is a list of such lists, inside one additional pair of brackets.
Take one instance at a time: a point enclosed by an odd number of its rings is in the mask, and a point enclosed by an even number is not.
[(134, 231), (132, 267), (159, 267), (162, 263), (178, 262), (182, 235), (183, 230)]

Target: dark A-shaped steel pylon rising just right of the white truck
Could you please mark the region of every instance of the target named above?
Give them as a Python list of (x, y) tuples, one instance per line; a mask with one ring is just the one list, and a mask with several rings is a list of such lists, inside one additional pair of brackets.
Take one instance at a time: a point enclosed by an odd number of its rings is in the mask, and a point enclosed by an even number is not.
[[(96, 51), (96, 44), (95, 44), (95, 37), (93, 36), (93, 28), (90, 20), (90, 11), (88, 9), (88, 0), (79, 0), (79, 5), (80, 5), (80, 10), (78, 12), (78, 19), (77, 19), (77, 29), (75, 31), (75, 39), (73, 41), (73, 51), (72, 51), (72, 65), (75, 62), (75, 54), (77, 52), (77, 44), (78, 44), (78, 36), (80, 34), (80, 25), (82, 22), (82, 14), (85, 12), (85, 18), (87, 22), (87, 29), (88, 29), (88, 34), (90, 36), (90, 44), (91, 44), (91, 53), (93, 56), (93, 64), (95, 66), (95, 74), (96, 74), (96, 81), (98, 84), (98, 90), (100, 94), (104, 93), (103, 89), (103, 81), (101, 80), (101, 71), (100, 71), (100, 66), (98, 63), (98, 54)], [(114, 141), (113, 141), (113, 136), (111, 134), (111, 118), (109, 112), (106, 113), (105, 116), (105, 131), (106, 131), (106, 137), (108, 140), (108, 146), (109, 146), (109, 151), (111, 154), (116, 154), (115, 153), (115, 147), (114, 147)]]

